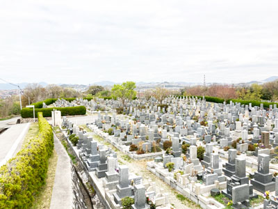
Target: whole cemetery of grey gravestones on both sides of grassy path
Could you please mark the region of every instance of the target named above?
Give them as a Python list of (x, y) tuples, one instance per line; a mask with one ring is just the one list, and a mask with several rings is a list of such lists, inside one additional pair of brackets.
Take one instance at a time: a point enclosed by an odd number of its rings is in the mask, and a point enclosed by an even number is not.
[[(90, 132), (79, 130), (65, 116), (61, 127), (79, 137), (73, 146), (76, 156), (92, 180), (102, 185), (99, 189), (111, 208), (120, 208), (126, 196), (136, 200), (133, 208), (148, 208), (146, 196), (156, 207), (165, 207), (169, 201), (167, 194), (144, 176), (129, 173), (129, 167), (118, 164), (117, 153), (94, 141), (91, 132), (133, 160), (147, 161), (147, 170), (156, 178), (202, 208), (224, 208), (213, 198), (219, 194), (226, 196), (233, 208), (248, 208), (252, 199), (265, 192), (269, 199), (261, 206), (278, 205), (275, 104), (264, 109), (263, 105), (169, 97), (160, 105), (151, 98), (126, 101), (117, 114), (120, 100), (78, 101), (92, 114), (93, 122), (85, 124)], [(74, 103), (57, 100), (54, 105)]]

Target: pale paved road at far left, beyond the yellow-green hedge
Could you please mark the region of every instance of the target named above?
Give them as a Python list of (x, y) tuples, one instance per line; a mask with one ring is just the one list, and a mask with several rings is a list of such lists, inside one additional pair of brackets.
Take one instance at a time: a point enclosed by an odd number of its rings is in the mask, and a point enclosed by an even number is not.
[(29, 127), (30, 123), (11, 125), (0, 134), (0, 167), (20, 150)]

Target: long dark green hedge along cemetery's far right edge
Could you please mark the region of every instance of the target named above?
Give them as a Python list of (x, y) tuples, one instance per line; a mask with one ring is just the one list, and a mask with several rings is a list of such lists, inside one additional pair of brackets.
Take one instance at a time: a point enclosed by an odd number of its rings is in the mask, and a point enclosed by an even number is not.
[[(177, 96), (177, 97), (182, 98), (183, 96), (181, 95), (181, 96)], [(197, 97), (198, 99), (203, 99), (202, 96), (188, 96), (188, 97), (195, 97), (195, 98)], [(225, 101), (223, 98), (215, 98), (215, 97), (209, 97), (209, 96), (205, 96), (204, 98), (207, 102), (223, 103)], [(229, 104), (230, 101), (232, 101), (234, 103), (240, 102), (240, 104), (247, 104), (247, 105), (249, 105), (251, 103), (252, 107), (254, 107), (254, 106), (260, 107), (261, 104), (263, 104), (264, 108), (269, 108), (270, 104), (272, 104), (272, 107), (273, 107), (273, 104), (277, 104), (277, 107), (278, 107), (278, 103), (275, 103), (275, 102), (261, 102), (261, 101), (255, 101), (255, 100), (230, 99), (230, 100), (227, 100), (226, 103)]]

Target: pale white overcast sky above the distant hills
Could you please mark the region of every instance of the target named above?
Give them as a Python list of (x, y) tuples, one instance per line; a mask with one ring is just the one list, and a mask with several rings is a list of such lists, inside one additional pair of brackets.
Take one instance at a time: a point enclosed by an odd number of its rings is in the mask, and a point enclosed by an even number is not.
[(0, 78), (262, 80), (278, 75), (277, 9), (277, 0), (2, 0)]

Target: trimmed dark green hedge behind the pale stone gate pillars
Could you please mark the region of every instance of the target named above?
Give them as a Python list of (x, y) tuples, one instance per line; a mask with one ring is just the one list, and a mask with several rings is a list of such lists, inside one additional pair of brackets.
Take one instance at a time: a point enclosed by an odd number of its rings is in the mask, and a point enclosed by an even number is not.
[[(38, 112), (42, 112), (44, 117), (51, 117), (51, 111), (53, 111), (53, 109), (54, 108), (35, 109), (35, 117), (38, 117)], [(56, 107), (55, 109), (61, 111), (61, 116), (76, 116), (86, 114), (86, 108), (84, 106)], [(33, 118), (33, 108), (23, 108), (21, 115), (22, 118)]]

